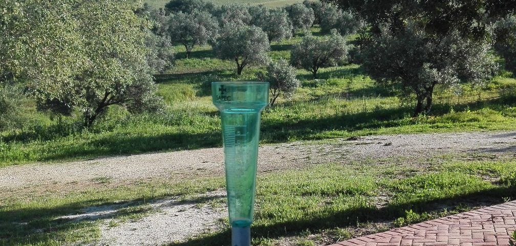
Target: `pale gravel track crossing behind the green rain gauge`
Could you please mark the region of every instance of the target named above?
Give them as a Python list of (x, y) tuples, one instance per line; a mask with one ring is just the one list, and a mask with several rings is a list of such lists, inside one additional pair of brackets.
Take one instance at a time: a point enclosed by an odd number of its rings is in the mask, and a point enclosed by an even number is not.
[[(325, 142), (294, 142), (260, 147), (261, 172), (329, 161), (364, 158), (432, 157), (446, 153), (516, 151), (516, 131), (365, 136)], [(34, 163), (0, 168), (0, 191), (44, 186), (55, 189), (94, 185), (99, 180), (120, 184), (153, 178), (223, 174), (221, 148), (116, 156), (69, 163)]]

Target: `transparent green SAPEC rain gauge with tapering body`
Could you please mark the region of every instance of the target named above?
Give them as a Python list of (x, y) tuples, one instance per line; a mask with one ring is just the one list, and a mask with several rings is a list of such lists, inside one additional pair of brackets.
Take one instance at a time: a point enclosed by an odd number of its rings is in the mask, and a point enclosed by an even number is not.
[(260, 115), (268, 103), (269, 83), (213, 82), (212, 96), (222, 120), (231, 245), (249, 246), (256, 192)]

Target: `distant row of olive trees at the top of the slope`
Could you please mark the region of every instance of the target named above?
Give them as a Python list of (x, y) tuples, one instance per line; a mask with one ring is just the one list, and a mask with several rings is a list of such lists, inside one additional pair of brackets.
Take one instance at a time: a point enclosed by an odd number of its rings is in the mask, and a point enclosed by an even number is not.
[(172, 0), (165, 9), (148, 8), (148, 12), (156, 21), (156, 35), (182, 43), (186, 57), (195, 45), (214, 45), (220, 34), (227, 33), (236, 25), (260, 27), (269, 43), (290, 38), (297, 30), (307, 30), (316, 20), (315, 13), (325, 15), (319, 19), (324, 23), (321, 24), (322, 29), (328, 33), (336, 29), (346, 36), (356, 33), (361, 25), (350, 12), (342, 12), (330, 4), (308, 1), (270, 9), (263, 5), (233, 3), (217, 6), (202, 0)]

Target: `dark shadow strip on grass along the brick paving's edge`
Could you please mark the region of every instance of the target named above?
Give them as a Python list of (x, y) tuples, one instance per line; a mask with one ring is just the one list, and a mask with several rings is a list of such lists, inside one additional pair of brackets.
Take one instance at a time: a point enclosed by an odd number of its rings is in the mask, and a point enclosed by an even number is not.
[[(252, 226), (253, 238), (282, 238), (298, 236), (307, 230), (318, 232), (325, 229), (346, 227), (365, 222), (393, 221), (404, 216), (405, 211), (412, 209), (414, 212), (439, 212), (442, 207), (456, 207), (464, 203), (494, 205), (503, 202), (503, 197), (516, 195), (514, 187), (493, 188), (490, 190), (459, 195), (449, 198), (430, 199), (429, 201), (416, 201), (412, 203), (389, 204), (383, 208), (356, 207), (333, 212), (319, 218), (306, 220), (286, 221), (272, 225)], [(187, 242), (171, 243), (169, 246), (201, 246), (201, 245), (228, 245), (231, 240), (229, 229), (222, 232), (190, 239)]]

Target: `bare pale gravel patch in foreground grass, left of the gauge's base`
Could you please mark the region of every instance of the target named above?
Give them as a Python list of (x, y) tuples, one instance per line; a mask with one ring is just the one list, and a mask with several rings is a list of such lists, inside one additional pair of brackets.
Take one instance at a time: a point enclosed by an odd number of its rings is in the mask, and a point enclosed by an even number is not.
[[(206, 197), (225, 198), (225, 191), (208, 192)], [(227, 206), (214, 209), (209, 205), (178, 203), (174, 199), (150, 204), (154, 212), (138, 220), (110, 226), (113, 219), (101, 225), (97, 246), (151, 246), (184, 241), (203, 232), (218, 230), (217, 221), (228, 214)]]

